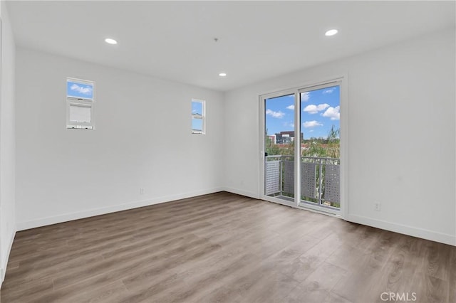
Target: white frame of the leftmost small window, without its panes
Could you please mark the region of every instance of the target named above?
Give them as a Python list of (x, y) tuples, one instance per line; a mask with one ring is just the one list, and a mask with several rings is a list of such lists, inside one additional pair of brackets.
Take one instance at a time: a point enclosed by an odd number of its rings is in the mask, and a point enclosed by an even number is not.
[[(68, 95), (68, 82), (92, 86), (92, 97)], [(90, 107), (90, 122), (71, 121), (71, 106)], [(95, 129), (95, 81), (66, 78), (66, 129)]]

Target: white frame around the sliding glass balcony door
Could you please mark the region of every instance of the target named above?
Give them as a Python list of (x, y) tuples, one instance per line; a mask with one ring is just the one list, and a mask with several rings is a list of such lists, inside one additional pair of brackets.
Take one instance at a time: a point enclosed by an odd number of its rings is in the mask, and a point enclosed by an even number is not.
[[(304, 83), (292, 88), (284, 88), (282, 90), (274, 90), (272, 92), (266, 92), (259, 95), (259, 198), (264, 201), (279, 203), (286, 206), (291, 206), (294, 208), (306, 209), (309, 211), (315, 211), (318, 213), (325, 213), (331, 216), (337, 216), (340, 218), (346, 218), (348, 214), (348, 75), (338, 75), (333, 77), (323, 78), (321, 81), (314, 81), (309, 83)], [(340, 190), (341, 190), (341, 208), (340, 210), (326, 209), (321, 206), (312, 206), (307, 205), (307, 203), (301, 203), (301, 166), (297, 165), (294, 167), (294, 201), (288, 202), (280, 198), (274, 198), (266, 196), (264, 194), (265, 184), (264, 184), (264, 142), (265, 142), (265, 101), (266, 99), (273, 97), (280, 97), (283, 95), (294, 94), (294, 133), (295, 138), (296, 134), (301, 133), (301, 104), (300, 104), (300, 92), (305, 92), (309, 90), (318, 90), (318, 88), (325, 87), (326, 85), (331, 86), (331, 84), (339, 85), (340, 87), (340, 152), (341, 152), (341, 168), (340, 168)], [(299, 122), (299, 123), (298, 123)], [(298, 135), (300, 138), (300, 136)], [(299, 163), (301, 161), (301, 144), (294, 145), (294, 161)]]

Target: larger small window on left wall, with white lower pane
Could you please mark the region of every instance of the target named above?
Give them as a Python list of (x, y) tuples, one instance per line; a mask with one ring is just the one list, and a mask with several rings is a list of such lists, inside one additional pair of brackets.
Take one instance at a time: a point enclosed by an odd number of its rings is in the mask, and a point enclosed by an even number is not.
[(66, 128), (95, 129), (93, 109), (95, 83), (88, 80), (66, 80)]

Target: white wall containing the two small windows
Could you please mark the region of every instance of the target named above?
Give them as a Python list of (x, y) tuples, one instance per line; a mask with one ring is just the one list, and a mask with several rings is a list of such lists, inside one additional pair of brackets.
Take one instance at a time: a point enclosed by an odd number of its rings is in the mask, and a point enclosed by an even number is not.
[[(16, 58), (19, 230), (222, 189), (221, 92), (23, 48)], [(95, 81), (95, 131), (66, 129), (67, 77)], [(191, 134), (192, 98), (206, 100), (205, 135)]]

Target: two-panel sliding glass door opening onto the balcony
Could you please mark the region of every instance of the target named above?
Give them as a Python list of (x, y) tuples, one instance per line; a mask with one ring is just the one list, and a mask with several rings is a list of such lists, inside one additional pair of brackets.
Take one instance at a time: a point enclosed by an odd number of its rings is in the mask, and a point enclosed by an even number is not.
[(340, 109), (338, 80), (261, 97), (265, 200), (340, 212)]

